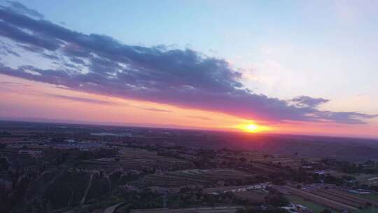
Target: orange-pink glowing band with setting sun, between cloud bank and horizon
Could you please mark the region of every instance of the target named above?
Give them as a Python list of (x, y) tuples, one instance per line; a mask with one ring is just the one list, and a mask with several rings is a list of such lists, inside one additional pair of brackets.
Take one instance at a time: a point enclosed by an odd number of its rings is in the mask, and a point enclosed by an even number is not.
[(3, 82), (0, 83), (0, 118), (49, 118), (76, 123), (225, 130), (251, 134), (378, 137), (378, 118), (365, 125), (304, 121), (277, 123), (249, 120), (216, 111), (94, 95), (3, 75), (0, 75), (0, 79)]

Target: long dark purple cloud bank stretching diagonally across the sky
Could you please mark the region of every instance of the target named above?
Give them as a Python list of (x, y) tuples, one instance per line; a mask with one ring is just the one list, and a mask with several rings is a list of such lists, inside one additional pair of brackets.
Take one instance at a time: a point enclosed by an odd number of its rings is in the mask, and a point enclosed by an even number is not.
[(60, 64), (61, 68), (40, 69), (25, 65), (10, 68), (0, 64), (0, 74), (71, 90), (265, 121), (356, 124), (378, 116), (321, 111), (318, 107), (328, 102), (322, 98), (300, 96), (286, 101), (258, 95), (240, 83), (241, 73), (223, 59), (207, 57), (190, 49), (125, 45), (109, 36), (74, 32), (4, 6), (0, 7), (1, 36), (18, 45), (40, 48), (42, 53), (55, 53), (55, 57), (40, 55)]

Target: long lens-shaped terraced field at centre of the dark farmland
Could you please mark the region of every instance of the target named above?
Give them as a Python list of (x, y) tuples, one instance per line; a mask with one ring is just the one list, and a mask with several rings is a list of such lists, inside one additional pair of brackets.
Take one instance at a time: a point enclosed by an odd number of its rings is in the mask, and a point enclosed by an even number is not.
[(255, 177), (255, 174), (229, 169), (181, 170), (147, 175), (137, 181), (137, 185), (179, 187), (183, 185), (211, 184), (216, 181), (253, 177)]

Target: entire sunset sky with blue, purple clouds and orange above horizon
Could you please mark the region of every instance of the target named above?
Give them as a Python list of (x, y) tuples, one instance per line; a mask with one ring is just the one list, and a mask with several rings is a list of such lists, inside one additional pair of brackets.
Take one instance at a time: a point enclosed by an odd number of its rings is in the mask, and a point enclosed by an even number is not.
[(0, 0), (0, 118), (378, 137), (377, 1)]

